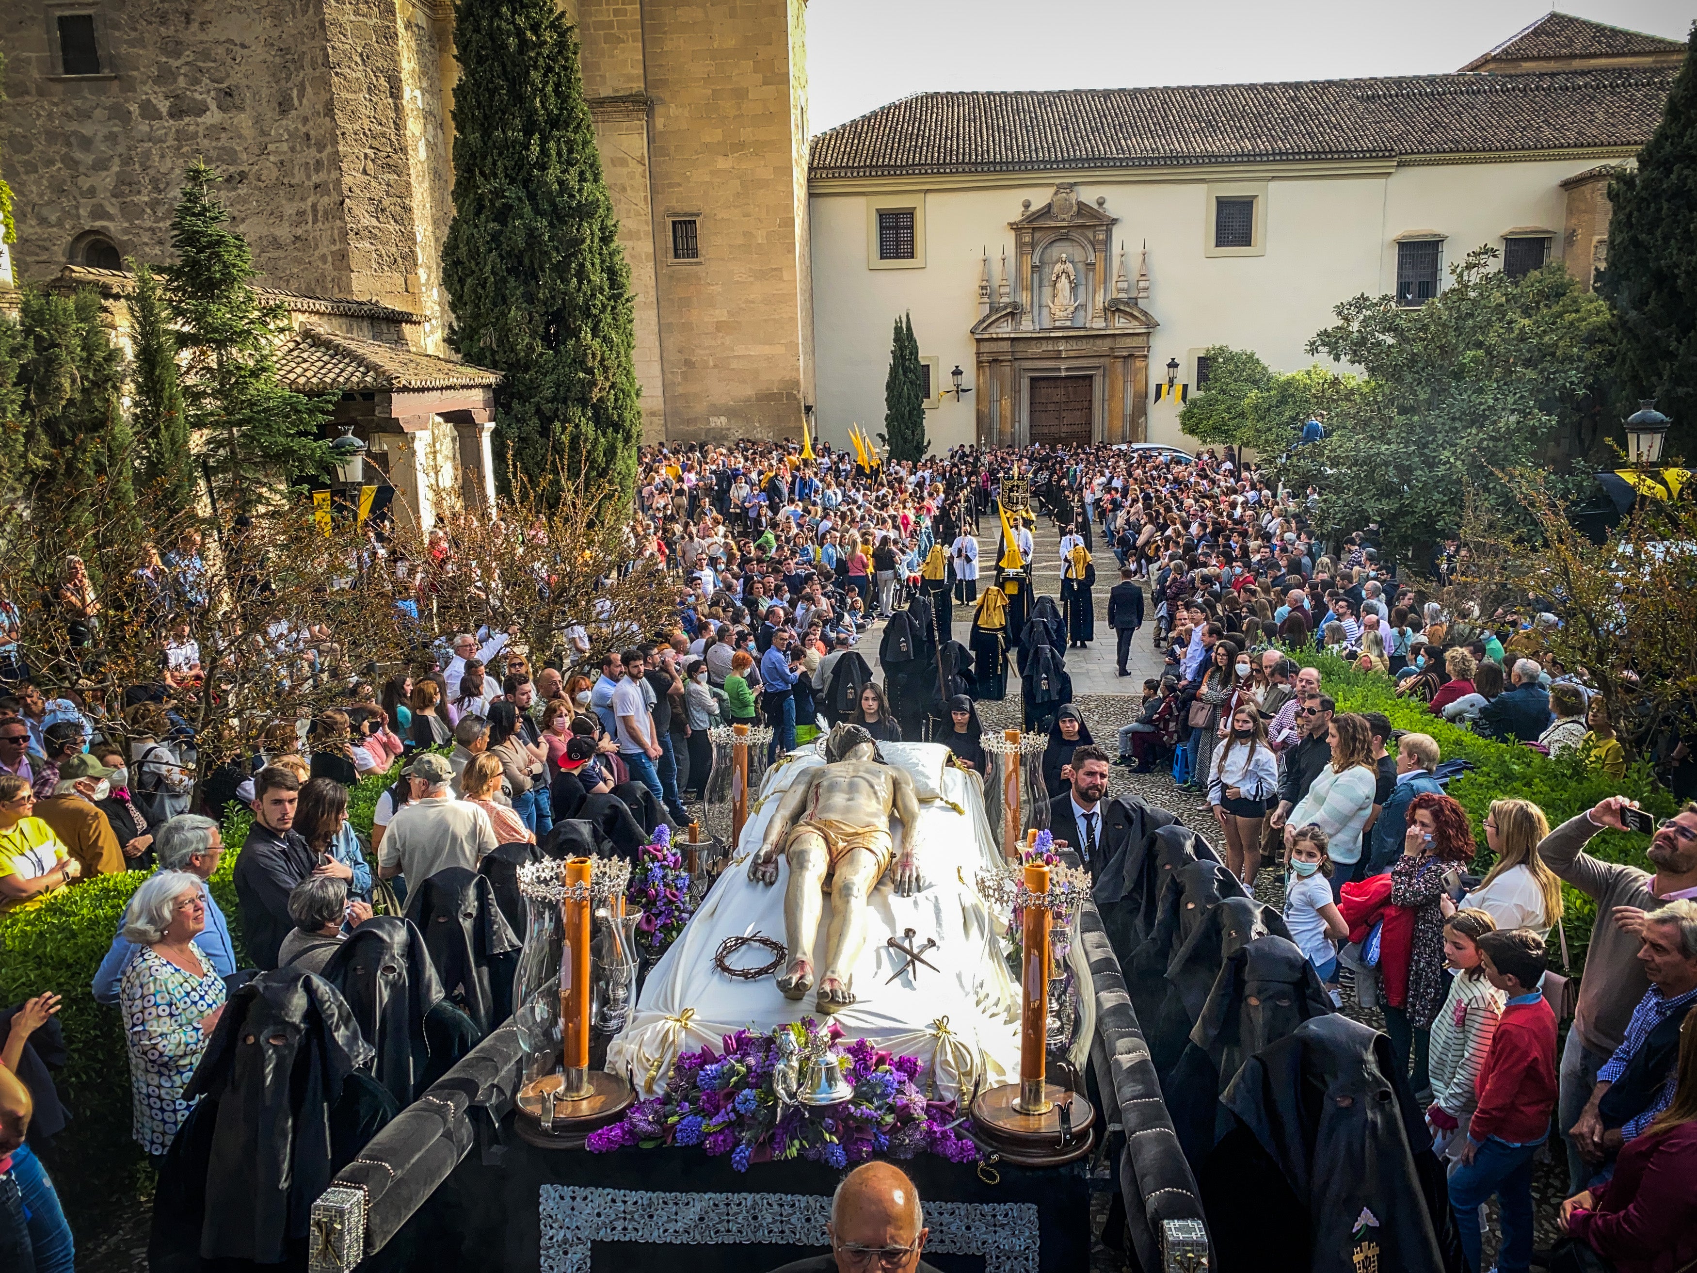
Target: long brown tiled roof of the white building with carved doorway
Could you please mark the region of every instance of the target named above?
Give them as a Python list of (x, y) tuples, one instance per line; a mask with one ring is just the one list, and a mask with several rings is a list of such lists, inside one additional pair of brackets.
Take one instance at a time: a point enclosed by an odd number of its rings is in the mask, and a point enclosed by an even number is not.
[(903, 177), (1643, 146), (1678, 68), (916, 93), (813, 139), (809, 175)]

